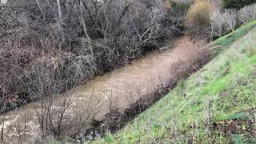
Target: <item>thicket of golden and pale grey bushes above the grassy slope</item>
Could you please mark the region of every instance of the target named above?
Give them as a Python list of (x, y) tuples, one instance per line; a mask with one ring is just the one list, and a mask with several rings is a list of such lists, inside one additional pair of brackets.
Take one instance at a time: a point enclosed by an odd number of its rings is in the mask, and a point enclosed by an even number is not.
[(186, 15), (186, 34), (213, 40), (256, 18), (256, 4), (223, 9), (222, 0), (197, 0)]

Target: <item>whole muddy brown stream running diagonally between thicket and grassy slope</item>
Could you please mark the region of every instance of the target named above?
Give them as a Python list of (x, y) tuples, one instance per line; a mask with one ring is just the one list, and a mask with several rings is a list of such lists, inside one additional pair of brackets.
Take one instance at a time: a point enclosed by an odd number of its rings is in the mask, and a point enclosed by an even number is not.
[[(1, 115), (3, 141), (34, 142), (45, 133), (67, 138), (93, 128), (94, 122), (104, 121), (110, 110), (126, 110), (138, 99), (168, 85), (170, 79), (182, 77), (180, 73), (184, 70), (194, 69), (183, 65), (201, 54), (203, 42), (185, 41), (188, 38), (178, 40), (177, 45), (168, 42), (159, 51), (66, 94), (54, 95), (43, 102), (31, 102)], [(63, 111), (65, 113), (61, 114)]]

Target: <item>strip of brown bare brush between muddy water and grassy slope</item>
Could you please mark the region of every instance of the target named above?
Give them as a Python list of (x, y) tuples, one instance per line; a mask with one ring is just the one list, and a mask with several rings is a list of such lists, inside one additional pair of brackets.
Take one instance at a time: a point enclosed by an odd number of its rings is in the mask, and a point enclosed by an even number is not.
[[(130, 106), (124, 110), (122, 109), (112, 109), (106, 115), (102, 115), (101, 118), (93, 119), (91, 123), (94, 128), (92, 130), (100, 131), (102, 137), (105, 134), (111, 133), (114, 134), (118, 130), (121, 130), (122, 127), (132, 121), (134, 118), (141, 114), (143, 111), (147, 110), (155, 102), (158, 102), (163, 96), (168, 94), (170, 90), (173, 90), (177, 86), (178, 82), (185, 80), (190, 77), (191, 74), (194, 74), (196, 71), (200, 70), (206, 63), (210, 62), (212, 55), (209, 50), (200, 50), (193, 57), (190, 57), (186, 60), (178, 60), (174, 62), (170, 67), (172, 69), (172, 78), (169, 78), (163, 85), (158, 85), (157, 89), (152, 91), (150, 94), (143, 95), (141, 98), (134, 103), (130, 103)], [(198, 80), (197, 83), (202, 84), (203, 80)], [(84, 139), (90, 134), (87, 132), (83, 134)], [(81, 135), (81, 134), (80, 134)], [(94, 141), (94, 139), (87, 140)], [(79, 142), (86, 142), (79, 141)]]

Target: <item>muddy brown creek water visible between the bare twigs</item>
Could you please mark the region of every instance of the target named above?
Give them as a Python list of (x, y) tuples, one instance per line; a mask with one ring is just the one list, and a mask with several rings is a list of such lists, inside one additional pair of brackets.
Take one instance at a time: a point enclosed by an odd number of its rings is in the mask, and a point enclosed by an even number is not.
[[(185, 49), (189, 49), (185, 48)], [(185, 49), (175, 48), (174, 41), (166, 43), (160, 50), (147, 54), (146, 57), (134, 61), (121, 69), (106, 73), (85, 85), (78, 86), (66, 94), (58, 94), (46, 98), (45, 102), (53, 102), (51, 115), (56, 125), (58, 111), (63, 101), (70, 98), (70, 106), (63, 116), (62, 135), (76, 133), (78, 124), (84, 124), (82, 129), (90, 129), (93, 121), (104, 120), (111, 108), (124, 110), (138, 98), (150, 94), (165, 85), (171, 78), (171, 65), (180, 59), (188, 57)], [(12, 110), (0, 116), (0, 133), (4, 142), (18, 143), (19, 139), (33, 142), (42, 137), (38, 114), (41, 116), (42, 102), (31, 102), (18, 110)], [(81, 123), (79, 119), (87, 119)], [(80, 122), (80, 123), (79, 123)], [(82, 121), (85, 122), (85, 121)]]

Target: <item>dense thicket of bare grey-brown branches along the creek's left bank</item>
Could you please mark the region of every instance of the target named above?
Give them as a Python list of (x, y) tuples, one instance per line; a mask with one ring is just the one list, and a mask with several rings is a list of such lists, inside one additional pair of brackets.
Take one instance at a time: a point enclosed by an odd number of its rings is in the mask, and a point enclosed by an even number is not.
[(10, 1), (0, 10), (1, 106), (125, 65), (170, 35), (179, 14), (162, 0)]

